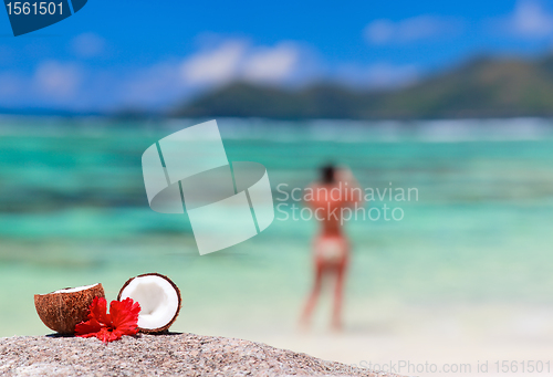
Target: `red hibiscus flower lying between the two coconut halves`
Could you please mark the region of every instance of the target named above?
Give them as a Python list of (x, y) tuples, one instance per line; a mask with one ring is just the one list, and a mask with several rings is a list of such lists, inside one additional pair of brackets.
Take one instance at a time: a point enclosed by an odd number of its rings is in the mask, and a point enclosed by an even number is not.
[(107, 314), (107, 301), (94, 297), (90, 311), (88, 321), (76, 324), (76, 336), (95, 336), (107, 344), (121, 339), (123, 335), (136, 335), (140, 305), (133, 302), (133, 299), (112, 301)]

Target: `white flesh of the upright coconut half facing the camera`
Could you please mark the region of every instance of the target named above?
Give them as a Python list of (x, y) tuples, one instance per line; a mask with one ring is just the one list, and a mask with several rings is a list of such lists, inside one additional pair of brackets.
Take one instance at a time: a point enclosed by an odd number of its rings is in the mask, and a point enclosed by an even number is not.
[(157, 275), (135, 277), (121, 292), (121, 300), (127, 297), (140, 304), (138, 327), (156, 329), (173, 321), (178, 311), (178, 295), (175, 287)]

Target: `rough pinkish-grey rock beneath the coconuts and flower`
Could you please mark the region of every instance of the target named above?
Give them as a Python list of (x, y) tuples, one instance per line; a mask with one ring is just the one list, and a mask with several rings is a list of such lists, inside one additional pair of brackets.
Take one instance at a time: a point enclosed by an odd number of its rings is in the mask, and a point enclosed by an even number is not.
[(2, 376), (395, 376), (261, 343), (194, 334), (0, 338)]

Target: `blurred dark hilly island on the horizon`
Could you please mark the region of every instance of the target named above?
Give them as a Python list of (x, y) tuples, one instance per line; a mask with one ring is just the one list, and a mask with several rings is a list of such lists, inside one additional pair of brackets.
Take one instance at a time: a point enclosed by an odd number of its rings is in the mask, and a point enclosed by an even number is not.
[(394, 91), (232, 83), (174, 108), (176, 117), (409, 119), (553, 116), (553, 55), (478, 59)]

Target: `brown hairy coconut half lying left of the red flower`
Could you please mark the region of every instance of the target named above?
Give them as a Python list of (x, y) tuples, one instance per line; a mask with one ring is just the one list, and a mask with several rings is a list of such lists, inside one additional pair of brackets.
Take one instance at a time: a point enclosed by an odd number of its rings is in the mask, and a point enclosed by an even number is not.
[(77, 323), (87, 320), (88, 306), (96, 296), (104, 297), (101, 283), (35, 294), (34, 307), (44, 325), (60, 334), (70, 335), (75, 333)]

